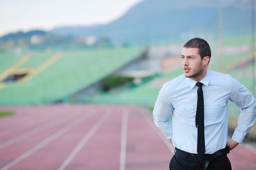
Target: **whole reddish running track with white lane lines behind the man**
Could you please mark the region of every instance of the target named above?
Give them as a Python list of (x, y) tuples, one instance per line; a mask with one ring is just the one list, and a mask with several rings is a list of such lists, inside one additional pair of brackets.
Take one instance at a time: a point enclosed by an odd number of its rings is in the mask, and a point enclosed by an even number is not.
[[(133, 106), (1, 106), (0, 170), (169, 169), (174, 147), (150, 111)], [(228, 154), (233, 170), (252, 170), (256, 153)]]

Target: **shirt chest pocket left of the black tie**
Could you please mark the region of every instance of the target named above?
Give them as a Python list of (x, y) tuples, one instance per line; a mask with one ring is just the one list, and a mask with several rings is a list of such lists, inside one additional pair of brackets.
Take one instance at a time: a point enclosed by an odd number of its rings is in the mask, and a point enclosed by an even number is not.
[(176, 116), (181, 120), (181, 122), (188, 125), (195, 125), (196, 121), (196, 111), (193, 105), (179, 105), (175, 108)]

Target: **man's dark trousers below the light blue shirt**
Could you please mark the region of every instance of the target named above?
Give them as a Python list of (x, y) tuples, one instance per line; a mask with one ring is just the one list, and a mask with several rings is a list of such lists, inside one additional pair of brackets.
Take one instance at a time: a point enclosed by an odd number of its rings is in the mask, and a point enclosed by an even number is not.
[(231, 170), (230, 160), (227, 154), (211, 158), (211, 155), (197, 157), (197, 154), (184, 154), (176, 152), (172, 157), (169, 168), (170, 170)]

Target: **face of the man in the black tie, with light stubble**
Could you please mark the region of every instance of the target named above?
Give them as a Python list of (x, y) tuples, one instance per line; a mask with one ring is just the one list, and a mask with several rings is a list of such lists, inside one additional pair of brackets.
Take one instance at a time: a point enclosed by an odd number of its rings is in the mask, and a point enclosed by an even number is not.
[(195, 81), (201, 81), (201, 79), (206, 76), (206, 64), (201, 60), (198, 48), (183, 47), (181, 52), (181, 61), (183, 72), (186, 77)]

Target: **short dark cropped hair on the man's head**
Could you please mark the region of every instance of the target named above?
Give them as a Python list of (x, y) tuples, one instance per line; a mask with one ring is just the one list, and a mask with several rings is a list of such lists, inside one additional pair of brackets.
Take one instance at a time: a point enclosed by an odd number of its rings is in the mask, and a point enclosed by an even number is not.
[(191, 40), (188, 40), (183, 47), (186, 48), (198, 48), (198, 53), (201, 56), (201, 60), (203, 60), (203, 57), (211, 56), (210, 52), (210, 45), (206, 40), (203, 40), (202, 38), (193, 38)]

